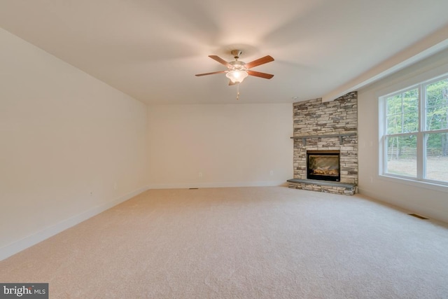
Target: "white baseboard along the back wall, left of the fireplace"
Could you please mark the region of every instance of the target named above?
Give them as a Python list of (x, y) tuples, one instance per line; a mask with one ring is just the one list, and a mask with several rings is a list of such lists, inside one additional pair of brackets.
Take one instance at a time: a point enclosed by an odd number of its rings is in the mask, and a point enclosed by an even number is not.
[(155, 183), (149, 189), (185, 189), (185, 188), (231, 188), (231, 187), (262, 187), (288, 186), (284, 181), (248, 181), (248, 182), (213, 182), (213, 183)]

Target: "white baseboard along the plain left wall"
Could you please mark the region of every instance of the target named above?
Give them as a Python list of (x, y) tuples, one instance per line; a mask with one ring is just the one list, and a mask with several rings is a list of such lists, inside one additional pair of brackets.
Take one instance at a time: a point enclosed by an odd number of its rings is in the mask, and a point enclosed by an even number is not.
[(101, 213), (102, 211), (106, 211), (106, 209), (110, 209), (111, 207), (114, 207), (117, 204), (120, 204), (121, 202), (125, 202), (126, 200), (129, 200), (130, 198), (139, 195), (140, 193), (143, 193), (146, 190), (148, 190), (148, 186), (134, 190), (133, 192), (128, 193), (127, 195), (123, 195), (111, 202), (106, 202), (104, 204), (100, 204), (97, 207), (92, 207), (92, 209), (83, 211), (83, 213), (80, 213), (64, 221), (56, 223), (55, 225), (52, 225), (49, 228), (45, 228), (44, 230), (36, 232), (33, 235), (29, 235), (28, 237), (19, 239), (16, 242), (3, 246), (0, 249), (0, 260), (4, 260), (5, 258), (13, 256), (15, 253), (27, 249), (28, 247), (31, 247), (34, 244), (37, 244), (38, 242), (42, 242), (44, 239), (48, 239), (49, 237), (52, 237), (57, 233), (66, 230), (67, 228), (71, 228), (72, 226), (81, 223), (87, 220), (88, 218), (91, 218), (92, 216)]

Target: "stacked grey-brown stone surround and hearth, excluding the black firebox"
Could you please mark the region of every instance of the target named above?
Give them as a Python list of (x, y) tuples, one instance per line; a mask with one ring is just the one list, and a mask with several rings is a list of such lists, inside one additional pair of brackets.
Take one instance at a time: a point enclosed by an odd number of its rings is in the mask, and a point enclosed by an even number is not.
[[(322, 99), (297, 102), (293, 104), (293, 113), (294, 179), (307, 179), (307, 151), (336, 150), (340, 151), (341, 186), (313, 181), (289, 183), (289, 187), (353, 195), (356, 187), (347, 188), (342, 183), (358, 185), (358, 93), (350, 92), (332, 102)], [(324, 136), (335, 134), (342, 136)]]

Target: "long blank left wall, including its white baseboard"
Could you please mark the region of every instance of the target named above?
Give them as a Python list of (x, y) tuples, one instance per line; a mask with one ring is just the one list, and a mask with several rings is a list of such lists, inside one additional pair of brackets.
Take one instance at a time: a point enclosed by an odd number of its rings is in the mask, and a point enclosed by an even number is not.
[(148, 176), (146, 105), (3, 29), (0, 44), (1, 260)]

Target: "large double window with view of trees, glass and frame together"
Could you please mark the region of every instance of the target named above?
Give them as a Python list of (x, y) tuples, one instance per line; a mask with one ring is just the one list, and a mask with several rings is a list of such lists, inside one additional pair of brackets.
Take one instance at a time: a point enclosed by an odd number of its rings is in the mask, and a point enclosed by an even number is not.
[(448, 74), (379, 100), (381, 175), (448, 185)]

